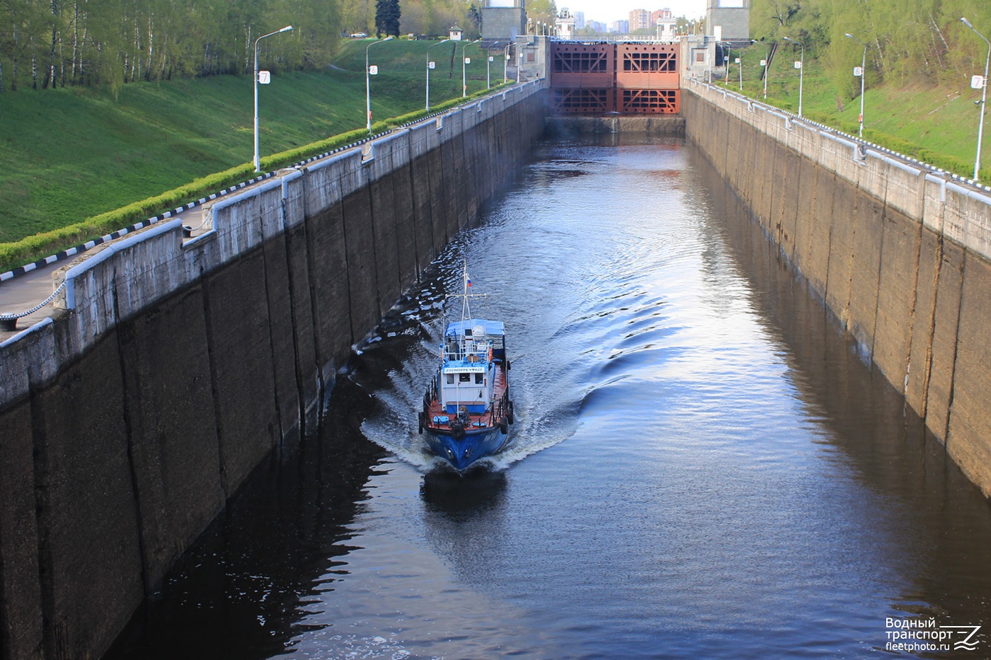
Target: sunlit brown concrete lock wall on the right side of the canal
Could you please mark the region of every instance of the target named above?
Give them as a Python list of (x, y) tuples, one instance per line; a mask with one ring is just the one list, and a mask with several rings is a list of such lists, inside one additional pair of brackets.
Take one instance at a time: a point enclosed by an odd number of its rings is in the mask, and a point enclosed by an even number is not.
[(686, 135), (991, 495), (991, 196), (688, 81)]

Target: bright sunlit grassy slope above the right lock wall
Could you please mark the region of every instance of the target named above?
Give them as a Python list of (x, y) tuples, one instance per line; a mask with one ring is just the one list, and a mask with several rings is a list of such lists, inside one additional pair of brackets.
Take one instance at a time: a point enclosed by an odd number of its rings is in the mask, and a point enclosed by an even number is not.
[[(763, 100), (760, 59), (766, 53), (766, 48), (759, 44), (743, 52), (743, 93), (758, 100)], [(767, 85), (767, 102), (795, 113), (799, 106), (799, 75), (792, 62), (796, 58), (787, 49), (779, 50), (771, 63)], [(859, 63), (859, 60), (850, 62), (851, 77), (853, 65)], [(844, 97), (818, 61), (807, 59), (805, 65), (803, 115), (856, 135), (859, 89), (854, 98)], [(961, 80), (958, 87), (934, 87), (902, 80), (872, 87), (870, 82), (868, 76), (864, 93), (865, 140), (947, 171), (973, 175), (980, 118), (973, 101), (980, 99), (980, 93), (970, 89), (969, 78)], [(728, 86), (739, 91), (735, 63), (730, 67)], [(986, 172), (987, 167), (982, 171)]]

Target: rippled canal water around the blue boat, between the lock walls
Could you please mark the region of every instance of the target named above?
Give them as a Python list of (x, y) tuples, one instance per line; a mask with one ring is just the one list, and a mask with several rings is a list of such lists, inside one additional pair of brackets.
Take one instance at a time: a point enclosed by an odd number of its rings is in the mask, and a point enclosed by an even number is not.
[[(694, 148), (623, 140), (538, 149), (112, 657), (859, 658), (888, 618), (991, 629), (987, 502)], [(516, 424), (460, 478), (415, 410), (466, 258)]]

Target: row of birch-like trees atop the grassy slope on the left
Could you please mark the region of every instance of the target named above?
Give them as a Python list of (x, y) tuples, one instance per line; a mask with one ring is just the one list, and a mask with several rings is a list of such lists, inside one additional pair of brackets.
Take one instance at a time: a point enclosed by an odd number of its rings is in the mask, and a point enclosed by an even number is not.
[(0, 91), (242, 73), (328, 61), (338, 6), (314, 0), (0, 0)]

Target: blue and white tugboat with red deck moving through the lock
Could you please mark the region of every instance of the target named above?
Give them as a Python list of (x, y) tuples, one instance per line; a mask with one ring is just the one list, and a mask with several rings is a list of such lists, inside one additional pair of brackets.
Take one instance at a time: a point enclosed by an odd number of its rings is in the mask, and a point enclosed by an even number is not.
[(513, 421), (509, 360), (501, 321), (473, 318), (472, 280), (464, 269), (461, 320), (449, 323), (440, 346), (440, 367), (423, 395), (419, 432), (458, 472), (505, 446)]

